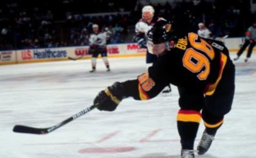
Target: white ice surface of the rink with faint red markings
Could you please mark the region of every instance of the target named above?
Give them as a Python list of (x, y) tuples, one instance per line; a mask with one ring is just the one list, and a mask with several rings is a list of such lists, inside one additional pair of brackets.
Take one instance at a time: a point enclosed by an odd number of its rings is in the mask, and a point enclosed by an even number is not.
[[(243, 55), (235, 65), (233, 109), (209, 152), (196, 157), (256, 157), (255, 53), (248, 63)], [(174, 86), (171, 94), (150, 101), (125, 99), (114, 112), (93, 110), (47, 135), (12, 132), (15, 124), (50, 127), (85, 109), (106, 86), (145, 72), (145, 57), (110, 59), (110, 68), (106, 72), (101, 59), (93, 74), (90, 60), (0, 66), (0, 157), (180, 157)], [(203, 130), (201, 121), (195, 147)]]

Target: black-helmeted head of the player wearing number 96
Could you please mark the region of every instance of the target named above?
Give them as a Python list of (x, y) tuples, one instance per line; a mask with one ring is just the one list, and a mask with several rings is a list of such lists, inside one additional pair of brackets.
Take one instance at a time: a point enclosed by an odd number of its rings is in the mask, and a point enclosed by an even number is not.
[(169, 21), (157, 21), (147, 33), (147, 47), (151, 54), (162, 55), (170, 51), (170, 41), (175, 40), (174, 29)]

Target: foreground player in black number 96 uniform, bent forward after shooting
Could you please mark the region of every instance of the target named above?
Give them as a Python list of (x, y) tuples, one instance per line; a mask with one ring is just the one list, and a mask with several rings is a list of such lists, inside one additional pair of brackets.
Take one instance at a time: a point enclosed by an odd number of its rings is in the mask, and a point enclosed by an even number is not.
[(158, 60), (137, 79), (115, 82), (102, 90), (94, 104), (99, 110), (114, 111), (124, 98), (147, 100), (172, 83), (178, 86), (180, 95), (177, 124), (181, 157), (195, 157), (194, 141), (201, 117), (205, 130), (197, 150), (202, 155), (210, 148), (233, 102), (235, 66), (228, 49), (220, 41), (200, 38), (193, 32), (178, 34), (166, 21), (158, 21), (148, 37), (152, 41), (149, 51), (159, 56)]

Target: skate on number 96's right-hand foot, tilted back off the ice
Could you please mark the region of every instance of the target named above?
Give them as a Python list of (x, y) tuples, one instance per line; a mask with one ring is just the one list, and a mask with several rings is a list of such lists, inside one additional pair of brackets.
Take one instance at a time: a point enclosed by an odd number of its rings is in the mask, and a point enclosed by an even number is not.
[(199, 142), (199, 145), (197, 146), (198, 155), (205, 154), (210, 148), (213, 140), (214, 140), (214, 136), (209, 135), (206, 133), (206, 131), (204, 131), (203, 136)]

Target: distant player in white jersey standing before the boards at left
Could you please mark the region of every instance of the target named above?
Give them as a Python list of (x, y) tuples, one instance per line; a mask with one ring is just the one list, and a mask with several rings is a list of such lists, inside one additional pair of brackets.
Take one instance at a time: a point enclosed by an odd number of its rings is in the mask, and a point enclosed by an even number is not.
[(97, 57), (99, 54), (102, 57), (102, 60), (104, 64), (106, 65), (107, 72), (110, 71), (109, 68), (109, 62), (107, 58), (107, 38), (108, 34), (107, 32), (99, 32), (99, 26), (98, 24), (93, 24), (92, 26), (93, 34), (90, 35), (89, 43), (89, 54), (92, 54), (92, 70), (90, 72), (96, 71), (96, 63), (97, 63)]

